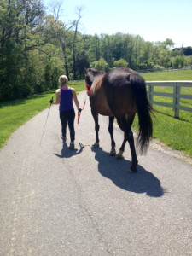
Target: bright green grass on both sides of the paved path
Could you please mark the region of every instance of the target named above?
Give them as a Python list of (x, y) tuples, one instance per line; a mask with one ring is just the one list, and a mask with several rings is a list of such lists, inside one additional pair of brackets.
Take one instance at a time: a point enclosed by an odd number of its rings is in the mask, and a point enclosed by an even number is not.
[[(192, 80), (192, 71), (174, 71), (165, 73), (144, 73), (142, 74), (146, 81), (163, 81), (163, 80)], [(75, 90), (85, 90), (84, 80), (70, 81), (69, 86)], [(154, 91), (171, 92), (169, 87), (155, 87)], [(182, 94), (192, 95), (192, 88), (183, 88)], [(0, 103), (0, 148), (8, 140), (13, 131), (20, 125), (26, 123), (34, 115), (49, 108), (50, 98), (55, 97), (55, 90), (30, 96), (26, 99), (15, 100), (11, 102)], [(172, 98), (154, 96), (158, 102), (170, 102)], [(183, 106), (192, 108), (192, 101), (181, 100)], [(184, 154), (192, 157), (192, 113), (180, 111), (179, 119), (173, 117), (172, 108), (160, 107), (154, 105), (156, 110), (154, 120), (154, 138), (158, 138), (173, 149), (181, 150)], [(137, 118), (134, 121), (133, 128), (137, 128)]]

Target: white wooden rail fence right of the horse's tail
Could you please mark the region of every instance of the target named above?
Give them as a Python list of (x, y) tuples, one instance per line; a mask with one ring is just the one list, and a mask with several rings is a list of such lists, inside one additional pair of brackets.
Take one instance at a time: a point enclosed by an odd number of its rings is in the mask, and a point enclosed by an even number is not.
[[(184, 107), (180, 105), (180, 99), (188, 99), (192, 100), (192, 95), (185, 95), (181, 94), (182, 87), (192, 87), (192, 81), (150, 81), (146, 82), (148, 86), (148, 99), (151, 105), (160, 105), (168, 108), (172, 108), (174, 111), (174, 117), (179, 117), (179, 110), (187, 111), (192, 113), (192, 108)], [(162, 87), (172, 87), (173, 93), (166, 93), (166, 92), (155, 92), (154, 86), (162, 86)], [(166, 102), (156, 102), (154, 101), (154, 96), (165, 96), (165, 97), (172, 97), (173, 102), (166, 103)]]

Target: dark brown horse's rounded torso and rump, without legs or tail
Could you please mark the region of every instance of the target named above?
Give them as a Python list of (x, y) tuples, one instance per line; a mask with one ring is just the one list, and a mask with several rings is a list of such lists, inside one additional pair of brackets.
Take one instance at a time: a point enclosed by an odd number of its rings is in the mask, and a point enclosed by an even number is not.
[(96, 77), (90, 90), (91, 109), (102, 115), (132, 119), (137, 113), (135, 89), (140, 84), (145, 84), (143, 78), (130, 68), (116, 68)]

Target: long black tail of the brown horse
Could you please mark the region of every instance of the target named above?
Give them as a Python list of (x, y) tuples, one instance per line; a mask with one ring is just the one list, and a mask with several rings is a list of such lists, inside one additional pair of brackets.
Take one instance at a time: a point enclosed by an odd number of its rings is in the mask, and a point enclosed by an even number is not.
[(146, 152), (150, 137), (153, 134), (153, 123), (150, 113), (153, 108), (148, 102), (146, 84), (143, 77), (137, 73), (131, 73), (127, 78), (131, 83), (133, 98), (137, 104), (139, 132), (137, 143), (140, 146), (141, 154)]

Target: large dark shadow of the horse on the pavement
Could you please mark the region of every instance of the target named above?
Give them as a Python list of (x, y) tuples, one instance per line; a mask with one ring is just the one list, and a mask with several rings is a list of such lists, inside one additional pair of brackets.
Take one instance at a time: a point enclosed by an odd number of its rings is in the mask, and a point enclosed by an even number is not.
[(160, 185), (160, 180), (142, 166), (137, 166), (137, 172), (131, 174), (128, 172), (131, 161), (117, 160), (115, 157), (109, 156), (102, 148), (92, 147), (91, 149), (95, 152), (99, 172), (120, 189), (134, 193), (146, 193), (151, 197), (164, 195), (165, 191)]

